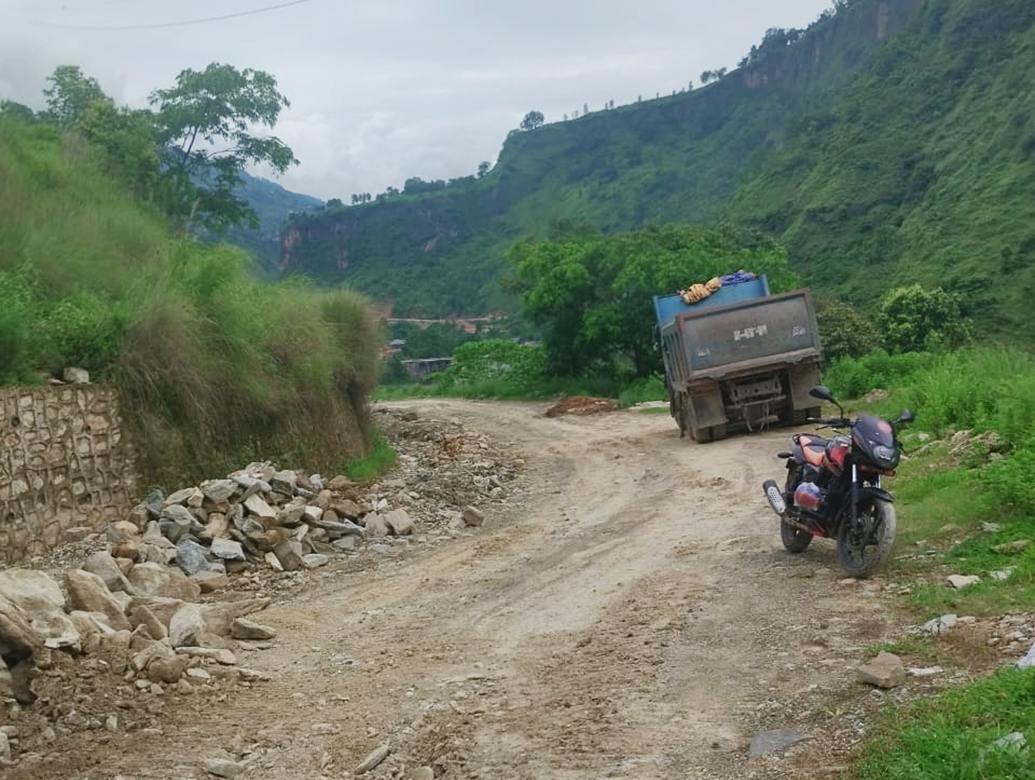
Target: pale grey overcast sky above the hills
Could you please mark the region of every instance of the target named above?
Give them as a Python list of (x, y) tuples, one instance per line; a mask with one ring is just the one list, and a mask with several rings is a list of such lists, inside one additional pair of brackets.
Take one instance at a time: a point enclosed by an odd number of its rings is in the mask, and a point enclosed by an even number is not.
[(474, 173), (530, 110), (558, 121), (584, 104), (697, 84), (702, 70), (736, 67), (766, 29), (806, 27), (831, 4), (301, 0), (181, 24), (277, 2), (0, 0), (0, 98), (41, 107), (59, 64), (80, 65), (131, 107), (184, 68), (266, 70), (292, 104), (274, 134), (300, 162), (278, 181), (348, 202), (410, 176)]

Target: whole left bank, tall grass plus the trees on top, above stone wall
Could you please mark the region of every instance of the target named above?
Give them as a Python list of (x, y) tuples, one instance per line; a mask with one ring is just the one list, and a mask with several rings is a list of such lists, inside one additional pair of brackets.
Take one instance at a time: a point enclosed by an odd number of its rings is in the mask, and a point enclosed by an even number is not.
[[(205, 74), (265, 95), (242, 117), (275, 119), (268, 77)], [(116, 384), (147, 483), (255, 459), (339, 469), (368, 452), (381, 324), (351, 291), (263, 284), (245, 252), (199, 240), (253, 216), (233, 195), (235, 166), (293, 161), (279, 142), (237, 134), (229, 156), (184, 147), (162, 162), (186, 132), (174, 119), (209, 88), (203, 76), (156, 93), (168, 116), (117, 109), (72, 67), (52, 77), (49, 111), (0, 105), (0, 385), (67, 367)]]

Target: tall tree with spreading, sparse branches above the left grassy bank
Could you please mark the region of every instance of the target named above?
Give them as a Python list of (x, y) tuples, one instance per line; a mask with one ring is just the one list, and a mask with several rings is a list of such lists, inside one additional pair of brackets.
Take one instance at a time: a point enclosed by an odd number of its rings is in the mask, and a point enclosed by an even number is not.
[(149, 100), (157, 106), (166, 210), (187, 229), (257, 227), (255, 211), (234, 195), (244, 166), (266, 164), (284, 173), (298, 164), (278, 138), (250, 132), (257, 124), (273, 127), (291, 105), (276, 80), (262, 70), (213, 62), (201, 71), (181, 71), (176, 86), (155, 90)]

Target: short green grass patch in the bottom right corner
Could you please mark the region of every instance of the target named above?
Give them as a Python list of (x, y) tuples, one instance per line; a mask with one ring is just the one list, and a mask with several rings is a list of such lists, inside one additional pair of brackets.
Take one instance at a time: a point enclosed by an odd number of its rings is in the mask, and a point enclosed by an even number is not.
[[(1022, 753), (992, 750), (1006, 734)], [(1035, 778), (1035, 670), (1003, 669), (931, 701), (892, 711), (861, 751), (858, 780), (1032, 780)]]

